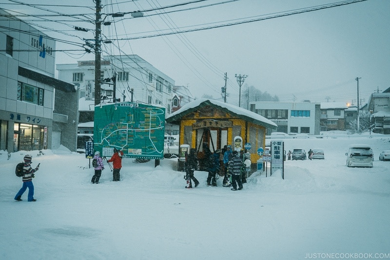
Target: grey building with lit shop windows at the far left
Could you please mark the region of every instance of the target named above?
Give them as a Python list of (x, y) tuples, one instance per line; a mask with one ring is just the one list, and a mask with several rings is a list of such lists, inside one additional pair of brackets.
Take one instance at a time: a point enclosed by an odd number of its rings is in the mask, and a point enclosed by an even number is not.
[(76, 151), (76, 89), (54, 79), (55, 40), (2, 9), (0, 17), (0, 150)]

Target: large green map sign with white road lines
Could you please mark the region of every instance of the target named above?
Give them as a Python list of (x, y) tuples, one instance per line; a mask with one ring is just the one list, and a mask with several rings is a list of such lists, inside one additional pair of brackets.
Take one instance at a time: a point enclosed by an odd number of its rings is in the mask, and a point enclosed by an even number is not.
[(112, 156), (164, 159), (165, 108), (135, 102), (95, 106), (94, 150)]

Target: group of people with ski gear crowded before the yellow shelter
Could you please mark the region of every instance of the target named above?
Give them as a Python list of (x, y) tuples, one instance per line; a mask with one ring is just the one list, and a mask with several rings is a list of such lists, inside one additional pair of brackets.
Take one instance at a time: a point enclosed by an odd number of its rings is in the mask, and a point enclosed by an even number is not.
[[(242, 190), (243, 183), (246, 183), (246, 160), (244, 150), (232, 151), (231, 145), (225, 145), (221, 150), (217, 149), (214, 153), (210, 151), (207, 145), (203, 146), (205, 168), (208, 170), (207, 186), (217, 186), (216, 180), (219, 175), (224, 175), (222, 186), (232, 187), (231, 190)], [(195, 169), (198, 169), (198, 159), (196, 157), (196, 149), (191, 148), (187, 155), (186, 169), (189, 171), (190, 185), (191, 180), (194, 181), (195, 187), (199, 185), (199, 181), (194, 177)], [(218, 176), (217, 176), (218, 175)]]

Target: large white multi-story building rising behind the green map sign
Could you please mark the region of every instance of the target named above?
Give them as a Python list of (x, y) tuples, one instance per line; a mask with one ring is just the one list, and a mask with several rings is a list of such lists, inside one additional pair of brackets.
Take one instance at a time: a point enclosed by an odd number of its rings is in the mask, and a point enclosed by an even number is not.
[[(57, 64), (59, 79), (73, 82), (78, 86), (79, 122), (93, 121), (95, 99), (95, 60), (78, 61), (75, 64)], [(116, 78), (115, 97), (118, 101), (138, 101), (160, 104), (171, 113), (173, 86), (175, 80), (156, 69), (152, 64), (137, 55), (106, 56), (101, 61), (101, 101), (113, 102), (113, 78)], [(105, 84), (105, 81), (109, 81)], [(85, 112), (86, 116), (82, 115)]]

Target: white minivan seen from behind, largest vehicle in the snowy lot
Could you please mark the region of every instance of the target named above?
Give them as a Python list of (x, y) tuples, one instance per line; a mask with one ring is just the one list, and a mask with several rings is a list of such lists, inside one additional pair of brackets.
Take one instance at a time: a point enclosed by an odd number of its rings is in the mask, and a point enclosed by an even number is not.
[(374, 155), (367, 144), (351, 144), (345, 155), (348, 167), (372, 167)]

